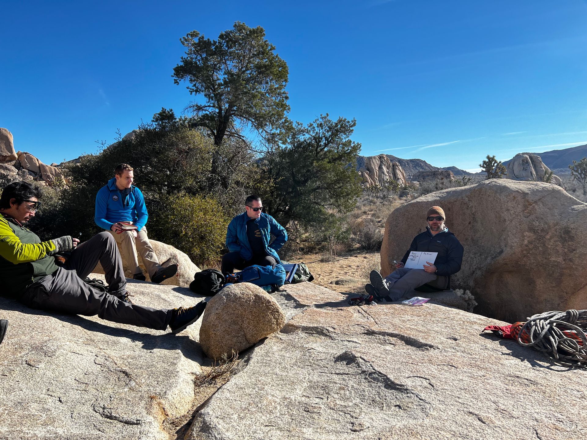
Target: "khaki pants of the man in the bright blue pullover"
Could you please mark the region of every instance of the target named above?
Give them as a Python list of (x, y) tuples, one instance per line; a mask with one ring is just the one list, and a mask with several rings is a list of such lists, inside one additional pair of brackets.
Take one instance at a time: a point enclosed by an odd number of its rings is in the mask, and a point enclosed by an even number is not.
[(120, 245), (120, 253), (122, 253), (122, 257), (126, 261), (130, 275), (143, 273), (143, 269), (139, 267), (137, 251), (139, 251), (143, 259), (143, 264), (147, 269), (147, 273), (149, 273), (149, 277), (152, 277), (157, 270), (161, 269), (157, 255), (155, 255), (155, 251), (153, 251), (153, 247), (149, 243), (147, 228), (145, 226), (137, 232), (137, 238), (134, 238), (131, 231), (123, 231), (121, 233), (110, 231), (110, 233)]

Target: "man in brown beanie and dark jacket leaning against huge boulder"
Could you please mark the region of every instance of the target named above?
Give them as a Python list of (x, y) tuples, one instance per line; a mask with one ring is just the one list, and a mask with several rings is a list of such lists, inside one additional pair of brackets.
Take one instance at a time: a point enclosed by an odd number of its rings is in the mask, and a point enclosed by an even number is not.
[[(403, 298), (408, 292), (427, 285), (431, 291), (450, 288), (450, 276), (461, 270), (463, 246), (454, 233), (444, 225), (446, 215), (440, 207), (431, 207), (426, 213), (426, 231), (416, 235), (396, 270), (382, 279), (379, 272), (370, 273), (370, 284), (365, 290), (375, 297), (391, 301)], [(438, 252), (434, 262), (426, 262), (422, 269), (407, 269), (407, 258), (412, 251)]]

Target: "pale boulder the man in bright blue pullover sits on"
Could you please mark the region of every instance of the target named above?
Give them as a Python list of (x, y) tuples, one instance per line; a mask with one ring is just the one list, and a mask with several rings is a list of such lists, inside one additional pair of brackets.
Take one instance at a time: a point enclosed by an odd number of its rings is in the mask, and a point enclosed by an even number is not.
[[(198, 268), (198, 266), (196, 266), (192, 260), (190, 260), (190, 257), (188, 257), (184, 252), (181, 252), (179, 249), (176, 249), (171, 245), (167, 245), (166, 243), (151, 239), (149, 239), (149, 242), (151, 243), (151, 246), (153, 246), (153, 251), (155, 251), (155, 255), (157, 255), (159, 263), (161, 263), (163, 267), (167, 267), (172, 264), (177, 265), (176, 275), (163, 280), (161, 284), (167, 286), (190, 287), (190, 283), (194, 280), (194, 274), (196, 272), (200, 272), (200, 268)], [(118, 249), (120, 251), (120, 245), (118, 245)], [(122, 256), (122, 253), (120, 253), (120, 255)], [(130, 273), (129, 265), (127, 264), (124, 257), (122, 258), (122, 264), (126, 277), (132, 278), (134, 274)], [(147, 281), (150, 281), (149, 273), (147, 273), (147, 269), (145, 268), (140, 255), (139, 267), (143, 270), (144, 275), (147, 277)], [(104, 269), (102, 269), (100, 263), (98, 263), (96, 266), (95, 272), (104, 273)]]

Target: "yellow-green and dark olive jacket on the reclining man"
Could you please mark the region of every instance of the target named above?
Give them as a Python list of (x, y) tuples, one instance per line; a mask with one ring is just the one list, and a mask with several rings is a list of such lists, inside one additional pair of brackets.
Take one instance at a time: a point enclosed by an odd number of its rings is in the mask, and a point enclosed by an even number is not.
[(36, 233), (0, 214), (0, 295), (18, 297), (33, 282), (55, 272), (56, 251), (52, 241), (41, 242)]

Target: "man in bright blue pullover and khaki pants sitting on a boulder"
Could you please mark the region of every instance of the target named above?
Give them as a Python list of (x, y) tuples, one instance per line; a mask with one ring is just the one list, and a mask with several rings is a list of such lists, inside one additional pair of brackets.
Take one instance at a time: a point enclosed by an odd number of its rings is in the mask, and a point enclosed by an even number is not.
[(151, 281), (160, 283), (176, 275), (177, 265), (166, 268), (160, 265), (147, 236), (145, 225), (149, 214), (143, 193), (133, 186), (133, 180), (133, 167), (129, 164), (120, 164), (116, 167), (114, 178), (96, 194), (94, 221), (100, 228), (110, 231), (116, 242), (121, 245), (121, 253), (134, 279), (146, 279), (139, 266), (139, 251)]

